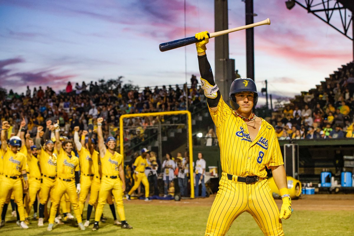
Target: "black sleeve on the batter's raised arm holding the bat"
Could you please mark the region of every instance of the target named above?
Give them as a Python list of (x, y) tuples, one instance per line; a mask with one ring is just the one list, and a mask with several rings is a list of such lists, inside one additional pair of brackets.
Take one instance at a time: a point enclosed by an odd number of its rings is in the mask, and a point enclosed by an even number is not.
[[(214, 81), (213, 71), (211, 70), (211, 66), (208, 61), (208, 58), (206, 58), (206, 54), (203, 56), (198, 56), (198, 63), (199, 63), (200, 76), (206, 81), (208, 81), (210, 85), (214, 86), (215, 81)], [(221, 93), (219, 90), (216, 93), (217, 93), (216, 98), (206, 98), (206, 102), (208, 103), (209, 107), (217, 107), (221, 97)]]

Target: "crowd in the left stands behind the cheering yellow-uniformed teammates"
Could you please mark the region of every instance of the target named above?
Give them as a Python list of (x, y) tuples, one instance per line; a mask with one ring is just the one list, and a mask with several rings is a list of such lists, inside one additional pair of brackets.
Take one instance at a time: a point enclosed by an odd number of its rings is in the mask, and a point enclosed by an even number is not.
[[(63, 86), (64, 88), (64, 86)], [(140, 92), (139, 92), (140, 91)], [(57, 120), (61, 126), (61, 136), (73, 137), (73, 128), (80, 130), (95, 129), (97, 117), (103, 117), (104, 137), (119, 138), (119, 117), (123, 114), (149, 113), (156, 111), (193, 110), (200, 104), (205, 104), (204, 96), (195, 76), (191, 78), (190, 86), (156, 86), (140, 89), (130, 84), (122, 84), (120, 79), (92, 82), (86, 85), (76, 83), (73, 87), (68, 82), (65, 90), (55, 92), (52, 88), (39, 86), (33, 91), (27, 86), (22, 94), (12, 90), (5, 99), (0, 101), (1, 120), (10, 122), (8, 135), (18, 131), (19, 123), (26, 121), (29, 134), (34, 137), (38, 126), (46, 127), (46, 121)], [(188, 102), (188, 104), (186, 104)], [(125, 126), (137, 127), (134, 132), (127, 131), (126, 141), (144, 139), (144, 129), (157, 122), (158, 117), (125, 119)], [(41, 133), (41, 135), (43, 135)], [(118, 142), (117, 142), (118, 145)]]

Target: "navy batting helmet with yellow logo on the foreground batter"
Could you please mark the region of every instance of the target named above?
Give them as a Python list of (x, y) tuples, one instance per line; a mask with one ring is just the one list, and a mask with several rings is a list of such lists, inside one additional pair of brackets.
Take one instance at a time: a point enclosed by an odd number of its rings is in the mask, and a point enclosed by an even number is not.
[(255, 81), (250, 78), (241, 77), (235, 79), (230, 87), (230, 105), (234, 110), (239, 109), (240, 105), (237, 104), (235, 94), (240, 92), (253, 92), (253, 107), (256, 107), (258, 102), (258, 93)]

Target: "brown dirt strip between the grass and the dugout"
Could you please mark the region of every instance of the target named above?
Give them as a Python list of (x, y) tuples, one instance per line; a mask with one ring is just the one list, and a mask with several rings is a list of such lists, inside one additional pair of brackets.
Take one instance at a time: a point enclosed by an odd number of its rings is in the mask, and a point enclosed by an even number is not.
[[(210, 206), (215, 198), (215, 194), (206, 198), (182, 199), (181, 201), (153, 200), (144, 202), (133, 200), (134, 203), (151, 204), (159, 206)], [(282, 201), (275, 200), (279, 209)], [(354, 194), (314, 194), (303, 195), (297, 200), (292, 200), (294, 210), (319, 210), (319, 211), (354, 211)]]

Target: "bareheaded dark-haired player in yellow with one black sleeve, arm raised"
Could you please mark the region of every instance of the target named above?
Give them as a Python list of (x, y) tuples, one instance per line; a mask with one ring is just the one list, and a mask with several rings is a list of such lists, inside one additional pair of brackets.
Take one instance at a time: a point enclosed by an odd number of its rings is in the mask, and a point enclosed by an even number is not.
[[(60, 199), (63, 196), (64, 192), (69, 195), (70, 202), (73, 205), (79, 228), (81, 230), (85, 230), (85, 226), (84, 224), (82, 224), (79, 200), (77, 195), (77, 192), (80, 191), (79, 158), (76, 157), (73, 152), (74, 142), (72, 140), (66, 139), (64, 140), (63, 144), (61, 143), (59, 136), (59, 120), (55, 124), (55, 128), (55, 139), (58, 151), (57, 181), (53, 190), (53, 202), (52, 207), (50, 209), (50, 217), (48, 220), (49, 224), (47, 230), (51, 231), (53, 229), (54, 218), (57, 212)], [(77, 188), (75, 188), (75, 182), (78, 184)]]

